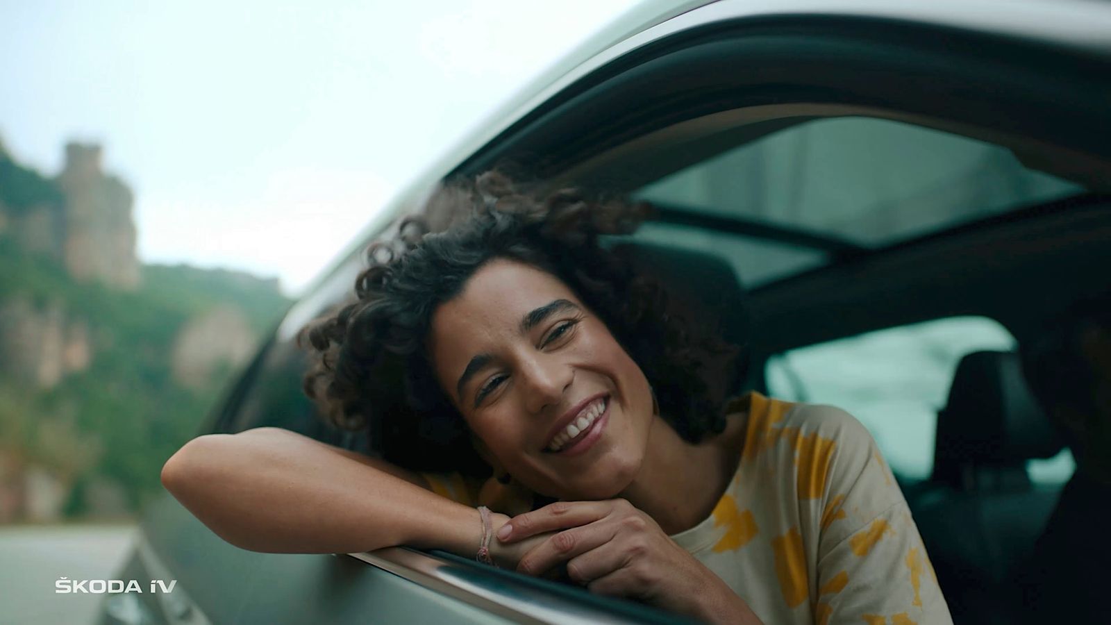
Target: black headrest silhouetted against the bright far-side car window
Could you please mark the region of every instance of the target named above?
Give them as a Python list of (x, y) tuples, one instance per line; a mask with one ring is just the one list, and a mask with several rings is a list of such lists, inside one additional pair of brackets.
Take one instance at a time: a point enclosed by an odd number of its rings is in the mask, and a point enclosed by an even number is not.
[(1063, 446), (1022, 377), (1014, 351), (977, 351), (961, 359), (938, 414), (933, 477), (958, 480), (962, 467), (1025, 467)]

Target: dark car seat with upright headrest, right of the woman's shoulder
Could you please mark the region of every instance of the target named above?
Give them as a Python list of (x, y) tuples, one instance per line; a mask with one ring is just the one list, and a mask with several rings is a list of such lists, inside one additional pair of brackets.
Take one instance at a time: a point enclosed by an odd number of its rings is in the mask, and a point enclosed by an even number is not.
[(938, 414), (932, 488), (911, 506), (957, 623), (1009, 623), (1009, 576), (1032, 550), (1060, 493), (1034, 486), (1027, 460), (1063, 442), (1012, 351), (961, 359)]

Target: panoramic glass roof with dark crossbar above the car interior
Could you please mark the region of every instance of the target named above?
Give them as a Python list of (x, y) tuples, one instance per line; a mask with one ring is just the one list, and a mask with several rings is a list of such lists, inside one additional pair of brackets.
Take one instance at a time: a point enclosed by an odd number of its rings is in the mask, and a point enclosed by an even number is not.
[(780, 130), (632, 197), (657, 205), (663, 221), (671, 221), (649, 225), (641, 238), (717, 249), (752, 287), (842, 252), (879, 249), (1084, 190), (1024, 167), (999, 146), (861, 117)]

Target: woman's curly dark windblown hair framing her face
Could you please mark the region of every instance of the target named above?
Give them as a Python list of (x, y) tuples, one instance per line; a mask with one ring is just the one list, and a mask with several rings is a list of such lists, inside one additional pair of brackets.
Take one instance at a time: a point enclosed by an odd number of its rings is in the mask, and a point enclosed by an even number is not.
[(567, 284), (641, 367), (680, 436), (697, 443), (724, 428), (725, 398), (711, 397), (701, 374), (707, 357), (732, 361), (738, 348), (669, 314), (658, 282), (599, 244), (600, 236), (634, 230), (647, 205), (591, 199), (573, 188), (540, 197), (498, 171), (450, 185), (439, 197), (450, 197), (454, 215), (464, 217), (441, 232), (419, 218), (402, 221), (396, 237), (368, 250), (357, 300), (301, 333), (313, 360), (304, 391), (332, 425), (366, 428), (371, 448), (399, 466), (489, 475), (432, 374), (426, 337), (437, 307), (502, 258)]

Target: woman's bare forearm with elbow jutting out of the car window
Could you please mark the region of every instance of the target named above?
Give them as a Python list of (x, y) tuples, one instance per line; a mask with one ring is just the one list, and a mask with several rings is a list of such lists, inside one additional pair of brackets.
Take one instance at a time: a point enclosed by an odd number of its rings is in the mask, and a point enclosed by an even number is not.
[(216, 534), (274, 553), (394, 545), (473, 554), (478, 510), (281, 430), (194, 439), (167, 463), (167, 489)]

